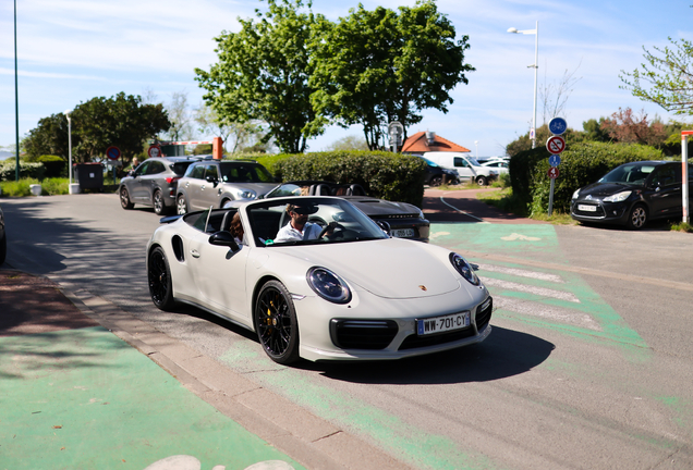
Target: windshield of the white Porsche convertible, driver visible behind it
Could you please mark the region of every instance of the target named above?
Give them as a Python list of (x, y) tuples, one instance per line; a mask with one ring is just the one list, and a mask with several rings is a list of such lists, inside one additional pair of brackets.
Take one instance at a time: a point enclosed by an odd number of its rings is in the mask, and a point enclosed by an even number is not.
[[(389, 237), (372, 219), (343, 199), (308, 196), (295, 201), (265, 200), (248, 206), (247, 218), (255, 243), (260, 247), (321, 245)], [(302, 230), (296, 230), (301, 223), (305, 225)]]

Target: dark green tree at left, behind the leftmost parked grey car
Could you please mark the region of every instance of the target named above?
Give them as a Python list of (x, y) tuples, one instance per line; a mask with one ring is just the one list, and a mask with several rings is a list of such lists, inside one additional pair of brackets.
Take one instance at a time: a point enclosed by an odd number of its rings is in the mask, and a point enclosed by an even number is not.
[(111, 98), (93, 98), (72, 112), (73, 159), (92, 161), (115, 146), (130, 161), (142, 152), (146, 139), (170, 126), (163, 106), (142, 104), (139, 96), (121, 91)]

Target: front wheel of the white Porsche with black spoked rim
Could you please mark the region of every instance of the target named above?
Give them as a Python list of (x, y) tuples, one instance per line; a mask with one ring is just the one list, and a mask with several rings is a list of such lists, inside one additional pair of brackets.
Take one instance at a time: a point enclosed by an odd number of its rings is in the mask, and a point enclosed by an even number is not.
[(255, 332), (271, 360), (290, 364), (299, 360), (299, 323), (291, 294), (279, 281), (268, 281), (255, 304)]

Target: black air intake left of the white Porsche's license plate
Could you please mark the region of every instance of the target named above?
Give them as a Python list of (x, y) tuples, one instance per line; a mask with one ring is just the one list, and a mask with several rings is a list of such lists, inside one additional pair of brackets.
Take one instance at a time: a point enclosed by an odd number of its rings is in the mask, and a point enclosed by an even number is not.
[(332, 343), (341, 349), (385, 349), (398, 332), (393, 320), (339, 320), (330, 322)]

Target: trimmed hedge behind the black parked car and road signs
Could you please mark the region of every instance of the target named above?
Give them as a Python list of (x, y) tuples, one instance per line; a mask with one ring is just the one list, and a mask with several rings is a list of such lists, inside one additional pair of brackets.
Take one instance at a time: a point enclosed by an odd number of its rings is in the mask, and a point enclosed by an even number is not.
[[(531, 208), (531, 213), (548, 210), (550, 168), (546, 148), (518, 153), (510, 159), (513, 196)], [(580, 143), (561, 153), (560, 175), (554, 187), (554, 209), (568, 213), (575, 189), (595, 183), (616, 166), (643, 160), (662, 160), (654, 147), (637, 144)]]

